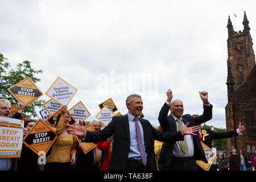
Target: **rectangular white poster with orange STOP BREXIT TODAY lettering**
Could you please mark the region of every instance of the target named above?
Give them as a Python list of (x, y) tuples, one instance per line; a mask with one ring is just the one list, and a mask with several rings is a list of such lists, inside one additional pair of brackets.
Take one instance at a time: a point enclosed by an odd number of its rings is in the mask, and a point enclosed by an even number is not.
[(23, 126), (22, 120), (0, 117), (0, 158), (20, 158)]

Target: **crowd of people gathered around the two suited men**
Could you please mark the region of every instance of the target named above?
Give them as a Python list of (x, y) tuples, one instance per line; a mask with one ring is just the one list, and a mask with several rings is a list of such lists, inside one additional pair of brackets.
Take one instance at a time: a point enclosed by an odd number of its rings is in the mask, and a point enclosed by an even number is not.
[[(39, 165), (42, 159), (23, 144), (20, 158), (0, 158), (0, 170), (197, 171), (202, 169), (196, 160), (207, 163), (201, 142), (212, 148), (213, 139), (237, 137), (245, 131), (241, 123), (237, 130), (226, 133), (201, 129), (202, 123), (212, 119), (213, 106), (205, 91), (199, 92), (203, 101), (202, 115), (183, 114), (183, 102), (172, 100), (170, 89), (166, 95), (167, 100), (158, 116), (158, 130), (139, 117), (143, 101), (137, 94), (127, 97), (127, 114), (114, 116), (108, 126), (96, 120), (90, 122), (94, 131), (85, 130), (81, 121), (76, 126), (69, 125), (67, 106), (62, 106), (55, 127), (52, 127), (57, 139), (47, 152), (44, 165)], [(0, 117), (10, 117), (10, 107), (10, 101), (1, 99)], [(20, 102), (19, 110), (12, 116), (24, 120), (24, 137), (36, 123), (28, 115), (22, 117), (25, 108), (26, 103)], [(96, 147), (85, 154), (81, 142), (94, 143)], [(253, 169), (256, 151), (254, 153)], [(223, 170), (245, 171), (247, 167), (248, 159), (243, 150), (238, 155), (233, 150), (229, 160), (223, 161)]]

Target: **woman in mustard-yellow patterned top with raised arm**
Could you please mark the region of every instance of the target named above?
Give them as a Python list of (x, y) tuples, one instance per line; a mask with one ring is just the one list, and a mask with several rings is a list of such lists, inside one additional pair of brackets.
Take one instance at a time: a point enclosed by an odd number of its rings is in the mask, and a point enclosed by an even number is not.
[(60, 108), (61, 113), (57, 116), (56, 134), (57, 139), (53, 143), (51, 154), (46, 159), (46, 171), (70, 170), (76, 161), (76, 137), (68, 134), (65, 123), (69, 122), (67, 106)]

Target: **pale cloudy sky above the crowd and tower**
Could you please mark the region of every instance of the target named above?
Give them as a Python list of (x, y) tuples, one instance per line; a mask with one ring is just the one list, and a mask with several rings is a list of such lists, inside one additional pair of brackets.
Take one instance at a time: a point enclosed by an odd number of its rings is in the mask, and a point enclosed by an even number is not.
[(126, 114), (126, 97), (137, 93), (145, 118), (158, 126), (167, 89), (189, 114), (203, 113), (198, 92), (206, 90), (213, 105), (207, 125), (225, 128), (228, 16), (234, 31), (243, 30), (246, 11), (254, 42), (255, 5), (252, 0), (0, 1), (0, 52), (13, 67), (29, 60), (42, 69), (36, 85), (43, 93), (58, 76), (77, 88), (68, 107), (82, 101), (92, 114), (89, 121), (110, 97)]

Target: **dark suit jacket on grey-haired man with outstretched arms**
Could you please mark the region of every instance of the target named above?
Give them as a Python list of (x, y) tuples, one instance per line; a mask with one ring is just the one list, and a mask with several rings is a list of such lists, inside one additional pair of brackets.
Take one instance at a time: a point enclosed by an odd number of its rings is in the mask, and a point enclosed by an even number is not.
[[(161, 133), (156, 130), (149, 121), (140, 118), (144, 144), (146, 146), (147, 162), (152, 170), (156, 171), (156, 162), (154, 154), (154, 140), (159, 140), (162, 142), (170, 142), (176, 140), (184, 140), (183, 135), (180, 131), (174, 131), (170, 133)], [(126, 115), (118, 115), (112, 118), (112, 121), (104, 130), (86, 131), (86, 136), (84, 142), (100, 142), (104, 139), (111, 137), (114, 134), (114, 143), (112, 155), (109, 162), (109, 170), (123, 171), (125, 170), (129, 150), (130, 150), (130, 130), (129, 130), (129, 120)]]

